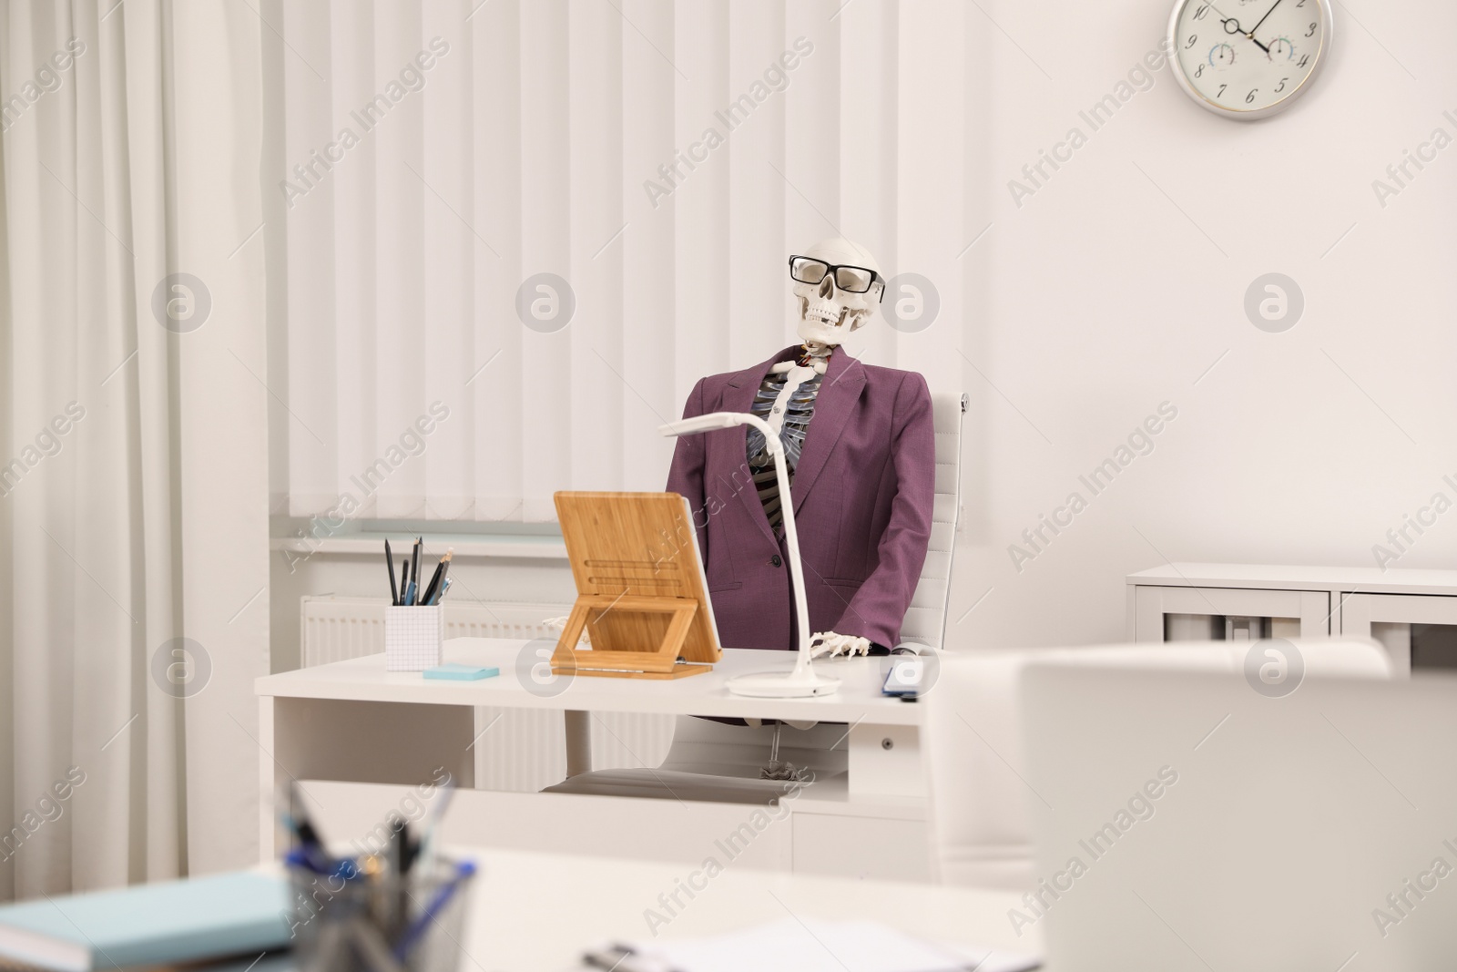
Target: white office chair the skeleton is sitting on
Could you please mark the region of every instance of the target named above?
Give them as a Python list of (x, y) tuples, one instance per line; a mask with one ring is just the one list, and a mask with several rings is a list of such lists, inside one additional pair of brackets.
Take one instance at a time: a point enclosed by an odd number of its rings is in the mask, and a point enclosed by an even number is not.
[[(931, 396), (935, 426), (931, 541), (900, 628), (902, 643), (924, 644), (937, 651), (946, 643), (946, 615), (951, 593), (951, 557), (962, 506), (962, 418), (966, 402), (966, 395)], [(769, 762), (777, 732), (781, 734), (781, 762), (812, 771), (816, 783), (845, 774), (849, 756), (844, 726), (727, 726), (680, 716), (667, 758), (656, 769), (583, 772), (546, 787), (543, 793), (772, 803), (784, 793), (784, 783), (762, 780), (759, 771)]]

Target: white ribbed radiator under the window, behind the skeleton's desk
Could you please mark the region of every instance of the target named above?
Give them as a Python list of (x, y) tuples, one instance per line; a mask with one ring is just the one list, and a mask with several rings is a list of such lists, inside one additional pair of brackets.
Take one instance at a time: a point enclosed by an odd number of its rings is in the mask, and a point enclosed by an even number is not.
[[(374, 597), (306, 595), (300, 603), (303, 667), (385, 651), (385, 608)], [(456, 600), (446, 606), (447, 638), (555, 638), (542, 619), (565, 615), (570, 605)], [(514, 678), (501, 672), (497, 678)], [(593, 713), (594, 769), (657, 767), (673, 742), (672, 716)], [(475, 785), (481, 790), (536, 793), (567, 775), (561, 713), (476, 710), (484, 729), (475, 742)], [(490, 729), (485, 729), (490, 726)]]

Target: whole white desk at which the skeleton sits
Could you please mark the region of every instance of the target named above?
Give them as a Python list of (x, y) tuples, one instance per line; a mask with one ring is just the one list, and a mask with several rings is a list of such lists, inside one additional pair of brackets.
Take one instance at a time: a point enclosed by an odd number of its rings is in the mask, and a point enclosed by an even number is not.
[[(803, 863), (806, 854), (820, 858), (848, 854), (847, 870), (839, 873), (924, 874), (922, 708), (880, 694), (886, 659), (822, 663), (842, 679), (839, 692), (823, 698), (730, 695), (724, 681), (734, 675), (793, 665), (787, 653), (733, 648), (726, 650), (724, 659), (705, 675), (678, 681), (578, 676), (562, 691), (545, 694), (529, 675), (530, 665), (539, 665), (539, 659), (525, 657), (519, 672), (527, 644), (497, 638), (447, 641), (447, 662), (501, 669), (500, 676), (479, 682), (425, 681), (418, 673), (386, 672), (383, 654), (259, 678), (259, 743), (265, 753), (261, 765), (262, 854), (274, 854), (277, 812), (272, 799), (290, 780), (421, 784), (436, 768), (444, 767), (460, 787), (474, 787), (472, 742), (487, 729), (478, 724), (476, 707), (498, 707), (564, 714), (628, 711), (845, 723), (849, 762), (845, 784), (839, 788), (816, 785), (798, 797), (793, 823), (778, 828), (772, 839), (756, 848), (758, 866), (791, 869), (796, 860)], [(533, 688), (536, 691), (530, 691)], [(571, 737), (568, 733), (568, 740)], [(570, 762), (581, 767), (587, 759), (577, 753)], [(559, 848), (562, 825), (590, 818), (603, 832), (616, 834), (609, 845), (599, 841), (596, 853), (640, 855), (645, 848), (676, 839), (680, 851), (666, 853), (669, 860), (701, 860), (699, 851), (710, 838), (733, 831), (747, 813), (742, 804), (688, 807), (673, 800), (573, 794), (474, 791), (462, 793), (460, 799), (474, 807), (468, 813), (510, 829), (516, 847)], [(366, 829), (370, 825), (363, 823)], [(479, 831), (471, 839), (495, 842)], [(578, 844), (567, 850), (587, 853), (589, 848)], [(879, 864), (854, 870), (857, 854)]]

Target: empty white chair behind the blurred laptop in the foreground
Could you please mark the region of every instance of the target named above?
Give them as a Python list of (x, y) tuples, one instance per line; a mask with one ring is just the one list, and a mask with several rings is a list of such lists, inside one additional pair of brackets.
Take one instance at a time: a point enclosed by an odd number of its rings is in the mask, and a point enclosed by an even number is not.
[[(925, 697), (931, 870), (941, 883), (1026, 890), (1033, 876), (1017, 685), (1034, 663), (1243, 672), (1249, 641), (1180, 641), (946, 656)], [(1391, 678), (1374, 641), (1295, 641), (1305, 678)], [(1214, 729), (1211, 726), (1211, 729)], [(1196, 740), (1190, 740), (1193, 745)]]

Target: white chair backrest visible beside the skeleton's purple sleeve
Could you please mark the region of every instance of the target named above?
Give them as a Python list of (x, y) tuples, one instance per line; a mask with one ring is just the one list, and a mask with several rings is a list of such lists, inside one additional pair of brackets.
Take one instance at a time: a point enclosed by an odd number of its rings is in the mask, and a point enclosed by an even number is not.
[(951, 599), (951, 555), (956, 552), (956, 519), (962, 510), (962, 418), (966, 395), (932, 395), (935, 421), (935, 507), (931, 545), (921, 567), (911, 608), (900, 624), (900, 640), (946, 647), (946, 614)]

